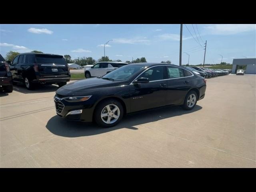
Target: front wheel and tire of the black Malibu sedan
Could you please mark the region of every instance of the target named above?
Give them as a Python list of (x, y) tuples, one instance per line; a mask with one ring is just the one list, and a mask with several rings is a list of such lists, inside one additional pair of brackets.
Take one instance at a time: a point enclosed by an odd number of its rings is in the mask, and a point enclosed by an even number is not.
[(115, 99), (107, 99), (96, 106), (94, 120), (101, 127), (112, 127), (121, 121), (123, 115), (122, 104)]

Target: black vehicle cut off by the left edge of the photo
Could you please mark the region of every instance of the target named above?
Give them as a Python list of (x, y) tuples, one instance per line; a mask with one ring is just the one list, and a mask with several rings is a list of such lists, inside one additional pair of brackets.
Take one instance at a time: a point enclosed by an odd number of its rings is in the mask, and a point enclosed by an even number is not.
[(5, 92), (12, 92), (12, 73), (8, 63), (4, 60), (2, 55), (0, 55), (0, 89)]

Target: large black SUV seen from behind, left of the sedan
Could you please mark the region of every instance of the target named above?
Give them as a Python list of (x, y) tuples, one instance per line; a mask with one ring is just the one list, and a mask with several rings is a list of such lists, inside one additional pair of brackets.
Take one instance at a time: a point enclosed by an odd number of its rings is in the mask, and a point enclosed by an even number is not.
[(22, 53), (10, 64), (13, 83), (25, 83), (28, 90), (36, 84), (58, 84), (64, 86), (70, 81), (70, 71), (61, 55)]

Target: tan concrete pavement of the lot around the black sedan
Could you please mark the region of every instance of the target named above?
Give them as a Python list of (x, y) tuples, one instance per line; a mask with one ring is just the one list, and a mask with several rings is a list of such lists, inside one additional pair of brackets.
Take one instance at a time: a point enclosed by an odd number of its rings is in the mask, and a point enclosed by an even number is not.
[(256, 167), (256, 76), (207, 80), (192, 111), (166, 107), (114, 128), (55, 113), (58, 86), (0, 94), (0, 167)]

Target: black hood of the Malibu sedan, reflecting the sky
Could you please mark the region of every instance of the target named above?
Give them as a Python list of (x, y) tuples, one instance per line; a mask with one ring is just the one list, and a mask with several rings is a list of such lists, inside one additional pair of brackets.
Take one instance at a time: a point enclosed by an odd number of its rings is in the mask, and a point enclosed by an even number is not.
[(69, 83), (56, 91), (56, 94), (73, 96), (90, 92), (90, 90), (117, 86), (120, 82), (113, 82), (102, 78), (89, 78)]

